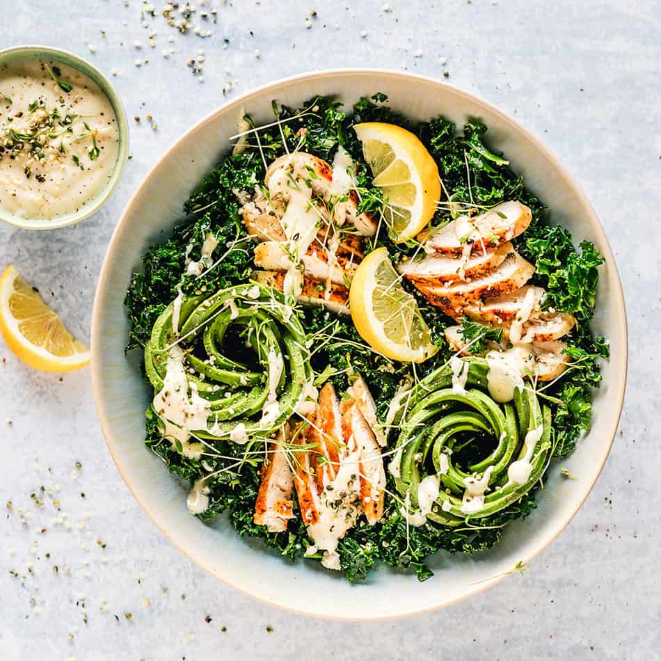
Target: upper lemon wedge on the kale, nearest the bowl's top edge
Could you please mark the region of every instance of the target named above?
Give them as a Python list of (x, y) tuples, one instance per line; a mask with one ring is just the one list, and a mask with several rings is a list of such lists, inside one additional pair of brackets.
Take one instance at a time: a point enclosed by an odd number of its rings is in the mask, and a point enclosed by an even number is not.
[(372, 169), (372, 184), (388, 198), (383, 215), (391, 238), (412, 239), (436, 212), (440, 199), (436, 162), (416, 136), (399, 126), (366, 122), (353, 128)]

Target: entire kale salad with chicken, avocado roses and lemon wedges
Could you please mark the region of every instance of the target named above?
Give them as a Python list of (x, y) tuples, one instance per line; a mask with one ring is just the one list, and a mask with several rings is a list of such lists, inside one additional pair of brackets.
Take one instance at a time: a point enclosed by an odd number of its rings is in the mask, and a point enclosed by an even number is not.
[(590, 428), (603, 258), (486, 133), (381, 93), (242, 114), (125, 299), (193, 515), (356, 581), (532, 513)]

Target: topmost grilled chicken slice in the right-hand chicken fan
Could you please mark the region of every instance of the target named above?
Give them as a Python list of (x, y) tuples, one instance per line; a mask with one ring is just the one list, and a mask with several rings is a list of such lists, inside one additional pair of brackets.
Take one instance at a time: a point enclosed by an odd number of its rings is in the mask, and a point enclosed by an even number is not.
[(445, 255), (459, 257), (467, 244), (471, 253), (485, 253), (525, 232), (531, 219), (532, 212), (521, 202), (501, 202), (478, 216), (459, 216), (423, 240), (425, 248)]

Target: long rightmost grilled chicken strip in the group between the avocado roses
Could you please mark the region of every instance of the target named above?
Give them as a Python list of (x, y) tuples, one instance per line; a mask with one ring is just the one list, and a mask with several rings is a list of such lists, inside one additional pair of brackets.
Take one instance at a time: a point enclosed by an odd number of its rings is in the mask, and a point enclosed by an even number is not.
[(385, 495), (381, 448), (358, 404), (351, 399), (342, 402), (342, 436), (344, 445), (358, 449), (356, 468), (360, 477), (360, 502), (367, 521), (374, 525), (383, 515)]

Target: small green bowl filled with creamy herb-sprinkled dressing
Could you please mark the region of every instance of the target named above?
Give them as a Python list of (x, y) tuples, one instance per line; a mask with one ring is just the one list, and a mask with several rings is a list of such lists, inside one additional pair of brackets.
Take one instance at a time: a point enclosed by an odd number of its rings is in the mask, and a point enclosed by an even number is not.
[(88, 218), (128, 153), (124, 106), (96, 67), (47, 46), (0, 50), (0, 220), (51, 230)]

